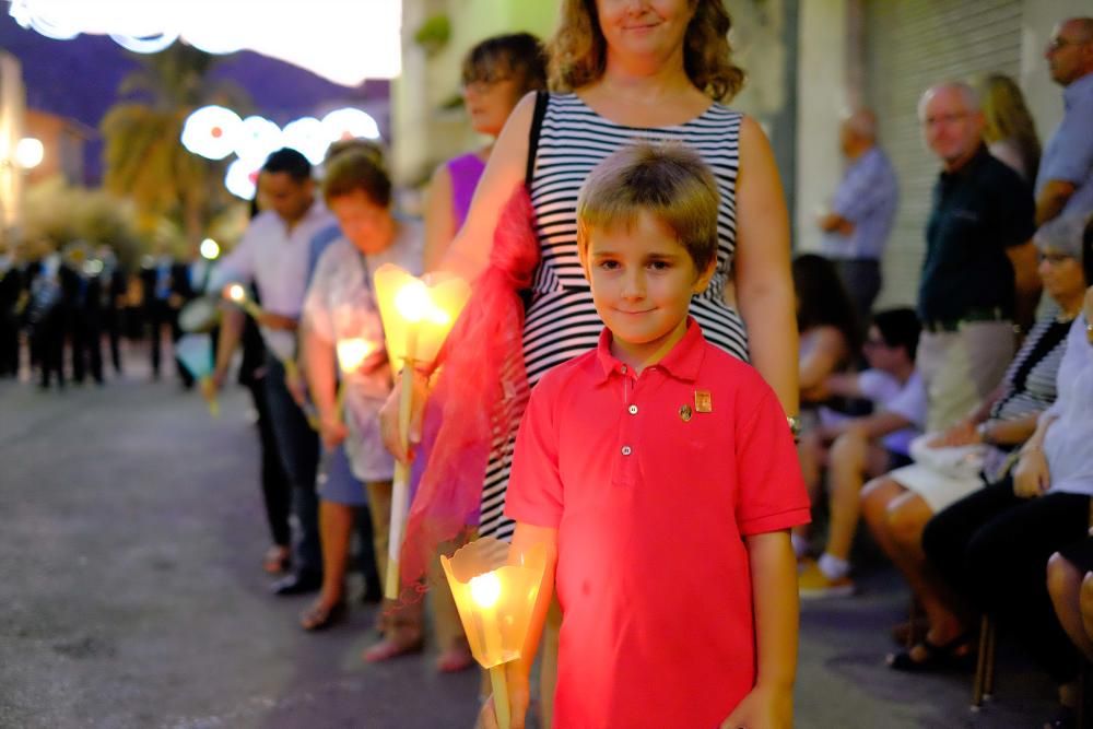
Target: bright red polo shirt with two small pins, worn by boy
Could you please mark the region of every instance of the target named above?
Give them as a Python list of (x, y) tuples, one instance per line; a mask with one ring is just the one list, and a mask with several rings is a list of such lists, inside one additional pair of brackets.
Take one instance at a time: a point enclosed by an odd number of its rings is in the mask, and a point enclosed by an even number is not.
[(536, 386), (506, 497), (557, 529), (554, 726), (716, 727), (755, 682), (742, 537), (809, 520), (797, 451), (773, 390), (694, 320), (636, 377), (610, 338)]

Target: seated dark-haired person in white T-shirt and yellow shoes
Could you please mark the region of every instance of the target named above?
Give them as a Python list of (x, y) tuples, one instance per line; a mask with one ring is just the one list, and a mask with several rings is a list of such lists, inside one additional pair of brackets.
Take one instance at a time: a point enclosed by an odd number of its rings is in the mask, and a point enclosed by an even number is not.
[[(881, 311), (863, 346), (870, 368), (827, 379), (827, 395), (871, 400), (873, 413), (862, 418), (824, 413), (820, 427), (801, 440), (801, 469), (813, 503), (821, 469), (827, 468), (831, 512), (823, 555), (819, 561), (808, 560), (798, 577), (802, 598), (854, 591), (849, 556), (862, 484), (867, 478), (909, 462), (910, 442), (926, 422), (926, 388), (915, 371), (919, 331), (913, 310)], [(804, 536), (795, 537), (803, 540)]]

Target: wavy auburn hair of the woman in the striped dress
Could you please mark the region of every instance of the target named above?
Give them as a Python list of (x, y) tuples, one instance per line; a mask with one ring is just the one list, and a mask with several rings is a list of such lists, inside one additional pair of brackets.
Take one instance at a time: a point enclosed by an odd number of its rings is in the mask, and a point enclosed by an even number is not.
[[(694, 16), (683, 39), (683, 69), (696, 89), (715, 101), (732, 98), (744, 84), (729, 46), (732, 20), (721, 0), (691, 0)], [(550, 86), (573, 91), (603, 75), (607, 42), (596, 13), (596, 0), (562, 0), (557, 30), (546, 46)]]

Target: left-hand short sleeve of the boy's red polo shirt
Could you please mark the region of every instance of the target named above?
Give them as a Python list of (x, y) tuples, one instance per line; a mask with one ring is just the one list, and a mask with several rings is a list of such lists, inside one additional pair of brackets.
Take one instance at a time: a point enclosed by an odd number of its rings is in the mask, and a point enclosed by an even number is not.
[(536, 527), (556, 529), (562, 521), (564, 490), (557, 461), (556, 398), (548, 374), (531, 391), (516, 435), (505, 515)]

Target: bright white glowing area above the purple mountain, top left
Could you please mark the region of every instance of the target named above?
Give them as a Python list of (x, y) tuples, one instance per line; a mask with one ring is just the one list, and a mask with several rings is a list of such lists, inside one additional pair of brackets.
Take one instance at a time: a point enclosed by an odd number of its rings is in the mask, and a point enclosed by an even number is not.
[(345, 86), (401, 72), (401, 0), (256, 5), (237, 0), (11, 0), (9, 12), (23, 27), (50, 38), (106, 34), (131, 50), (154, 52), (168, 37), (180, 37), (211, 54), (254, 50)]

